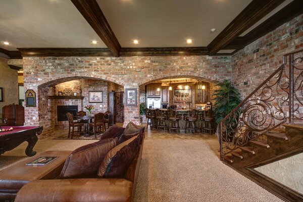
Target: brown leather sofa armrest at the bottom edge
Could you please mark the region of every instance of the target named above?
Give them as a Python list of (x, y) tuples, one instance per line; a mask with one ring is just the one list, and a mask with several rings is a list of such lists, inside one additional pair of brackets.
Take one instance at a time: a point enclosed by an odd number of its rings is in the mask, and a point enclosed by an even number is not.
[(131, 201), (132, 185), (126, 179), (37, 180), (23, 186), (15, 202)]

